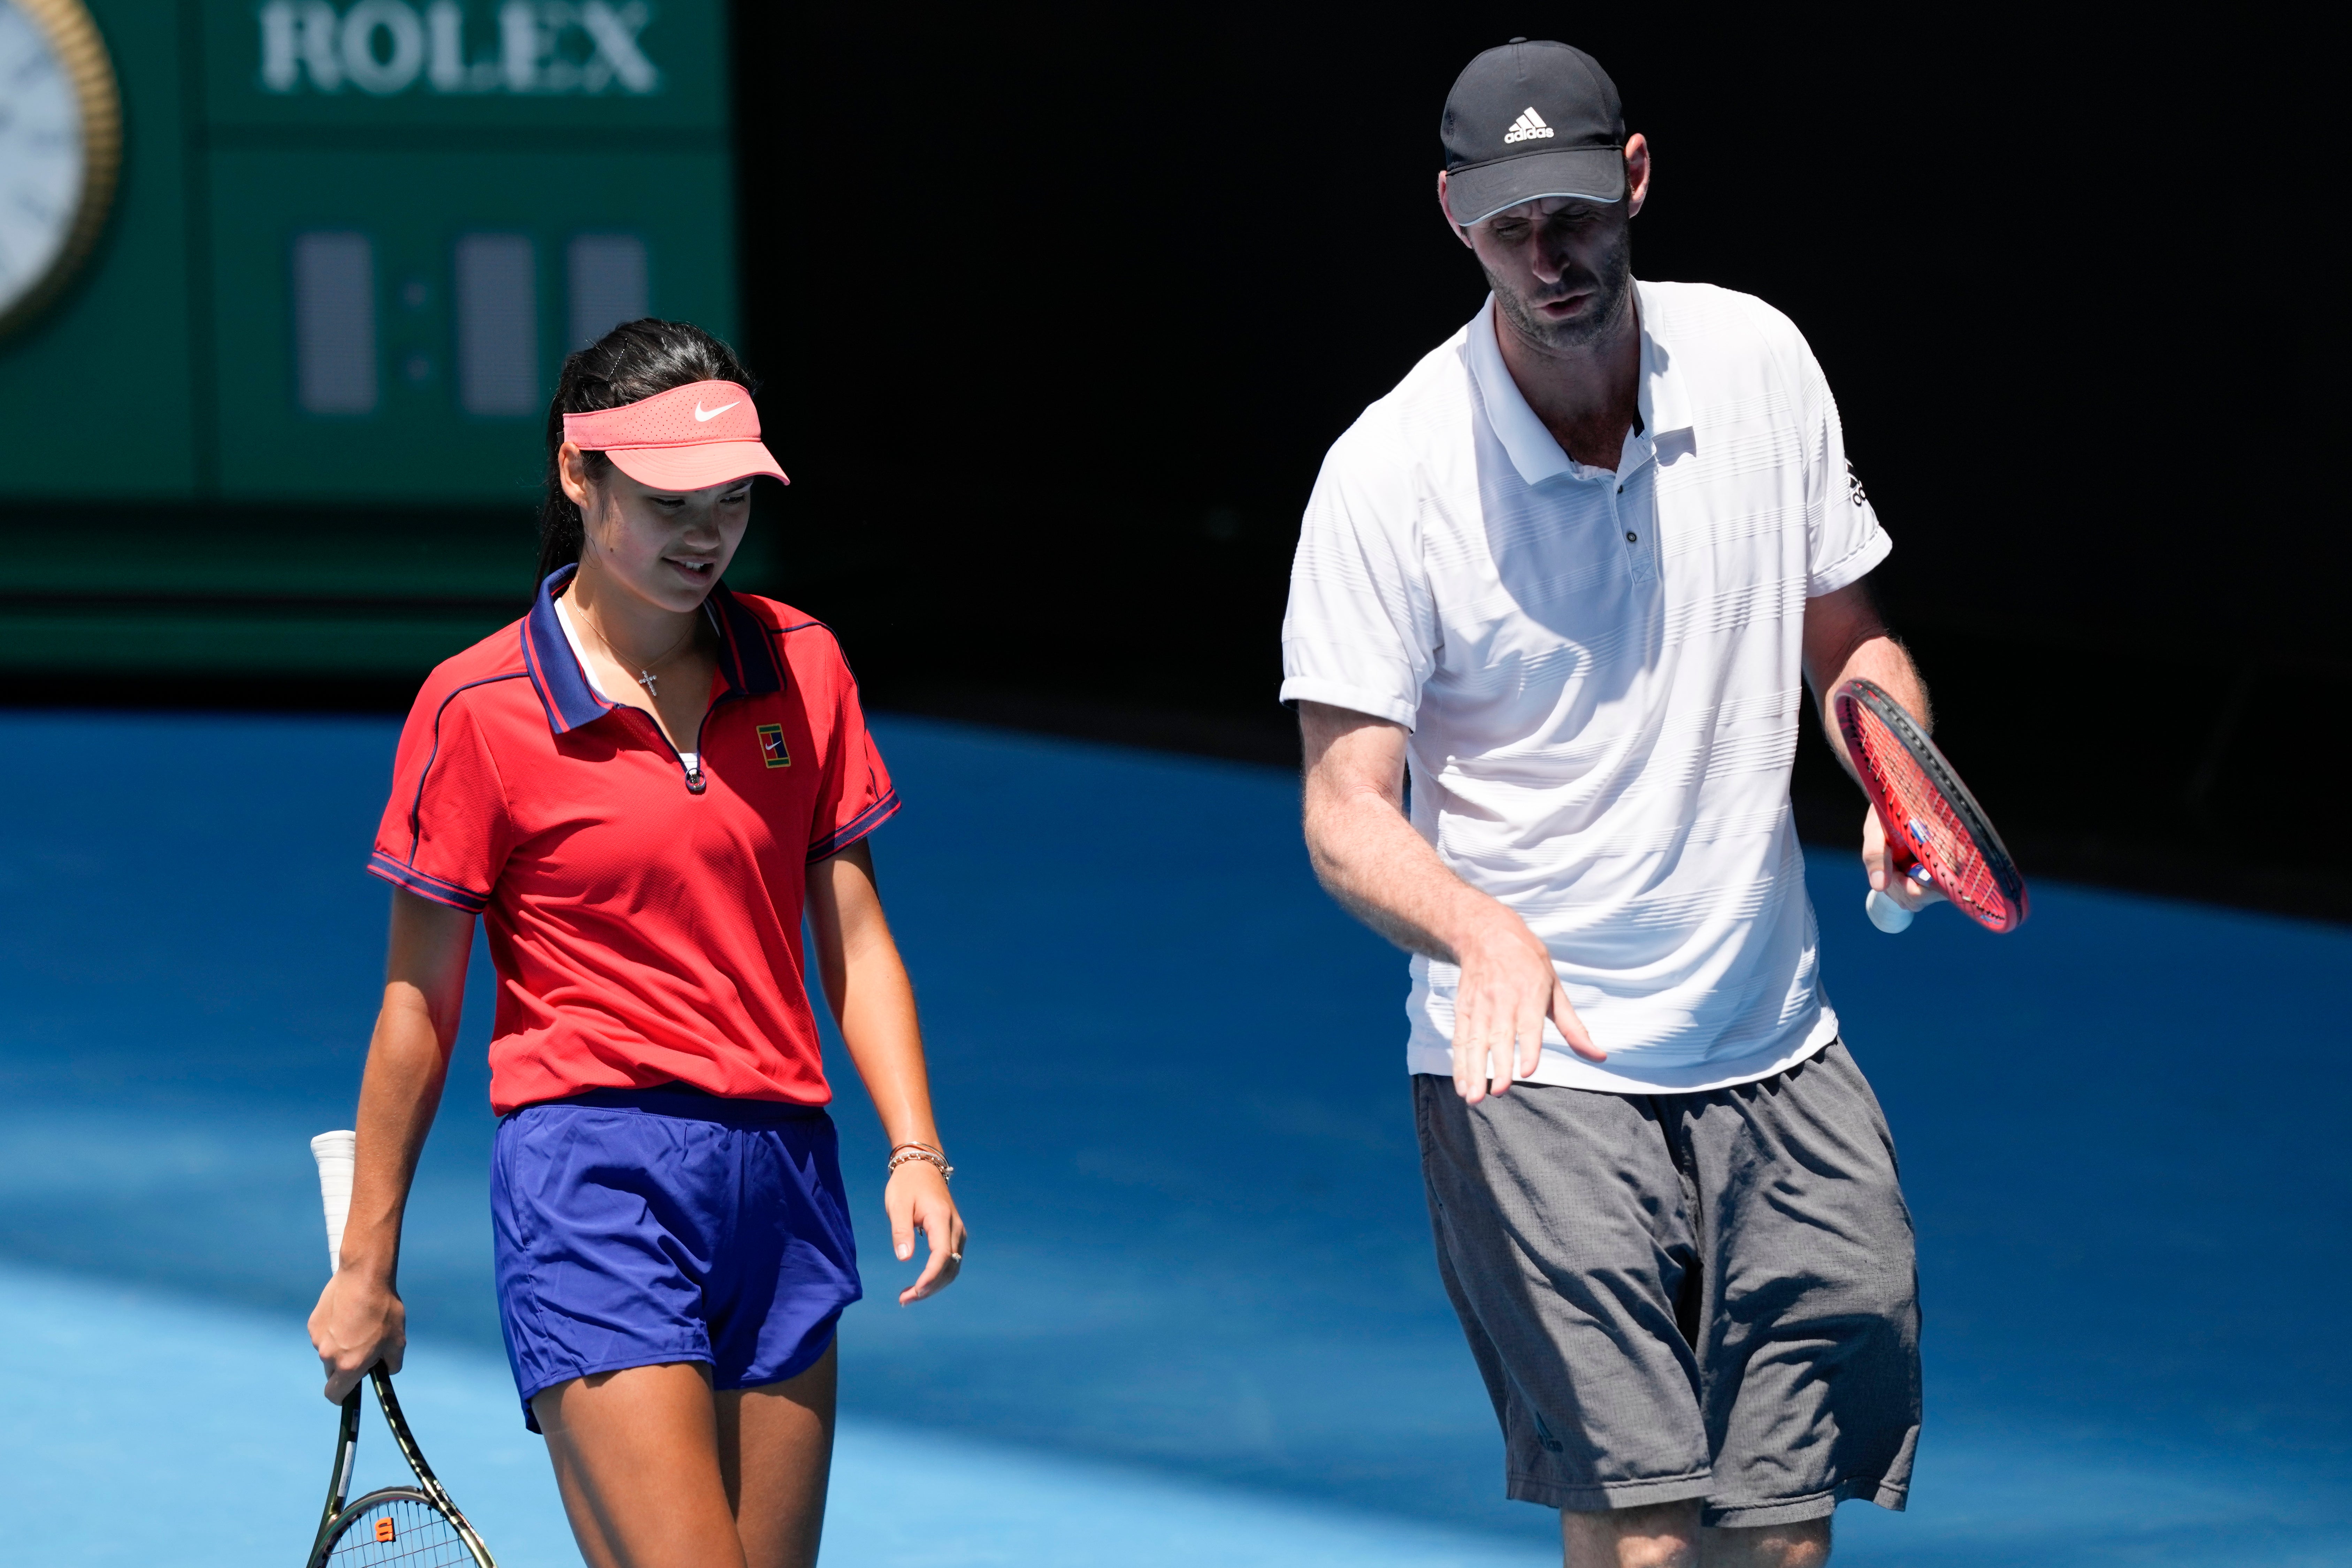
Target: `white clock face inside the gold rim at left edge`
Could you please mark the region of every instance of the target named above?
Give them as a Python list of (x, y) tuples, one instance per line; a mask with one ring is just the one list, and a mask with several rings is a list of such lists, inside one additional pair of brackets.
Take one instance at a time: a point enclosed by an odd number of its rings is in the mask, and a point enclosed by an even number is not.
[(0, 315), (56, 268), (85, 183), (73, 78), (49, 33), (0, 0)]

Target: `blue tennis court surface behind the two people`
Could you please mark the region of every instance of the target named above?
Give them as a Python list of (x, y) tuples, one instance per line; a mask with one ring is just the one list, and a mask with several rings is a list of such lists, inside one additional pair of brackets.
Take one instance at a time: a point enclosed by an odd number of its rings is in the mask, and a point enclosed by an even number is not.
[[(1289, 776), (882, 719), (875, 839), (974, 1229), (870, 1300), (826, 1561), (1524, 1566), (1430, 1262), (1402, 959), (1315, 886)], [(393, 719), (0, 717), (0, 1474), (26, 1563), (299, 1561), (332, 1450), (306, 1138), (381, 980)], [(1856, 797), (1860, 813), (1860, 797)], [(1903, 938), (1816, 856), (1832, 997), (1903, 1152), (1915, 1505), (1839, 1563), (2352, 1563), (2352, 931), (2037, 886)], [(402, 1286), (405, 1403), (501, 1563), (576, 1561), (499, 1352), (468, 1044)], [(889, 1288), (884, 1288), (889, 1286)], [(362, 1479), (397, 1460), (362, 1439)]]

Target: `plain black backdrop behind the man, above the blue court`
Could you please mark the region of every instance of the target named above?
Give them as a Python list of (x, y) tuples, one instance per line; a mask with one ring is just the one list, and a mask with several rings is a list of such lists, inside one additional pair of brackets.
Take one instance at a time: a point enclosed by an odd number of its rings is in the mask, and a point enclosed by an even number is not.
[[(795, 480), (762, 527), (875, 705), (1287, 755), (1315, 468), (1484, 294), (1432, 197), (1446, 87), (1564, 38), (1653, 146), (1637, 273), (1813, 343), (1898, 545), (1872, 583), (2027, 870), (2345, 912), (2270, 764), (2347, 693), (2319, 40), (1501, 5), (736, 33), (746, 350)], [(1849, 832), (1825, 769), (1806, 825)]]

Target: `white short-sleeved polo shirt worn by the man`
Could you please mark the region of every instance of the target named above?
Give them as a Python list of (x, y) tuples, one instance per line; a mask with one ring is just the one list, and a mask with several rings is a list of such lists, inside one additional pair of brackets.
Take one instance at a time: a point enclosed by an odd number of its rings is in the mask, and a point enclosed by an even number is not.
[[(1282, 698), (1411, 729), (1414, 827), (1552, 950), (1609, 1053), (1541, 1084), (1771, 1077), (1837, 1037), (1788, 802), (1804, 602), (1891, 541), (1797, 327), (1642, 282), (1616, 473), (1519, 395), (1494, 301), (1334, 442), (1282, 623)], [(1458, 969), (1411, 961), (1411, 1072), (1451, 1072)]]

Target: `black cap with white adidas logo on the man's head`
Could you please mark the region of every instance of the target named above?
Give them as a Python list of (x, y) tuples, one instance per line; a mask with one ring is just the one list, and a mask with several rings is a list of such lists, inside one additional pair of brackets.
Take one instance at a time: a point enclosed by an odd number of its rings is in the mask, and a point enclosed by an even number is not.
[(1461, 226), (1543, 195), (1625, 200), (1625, 110), (1583, 49), (1512, 38), (1446, 94), (1446, 207)]

